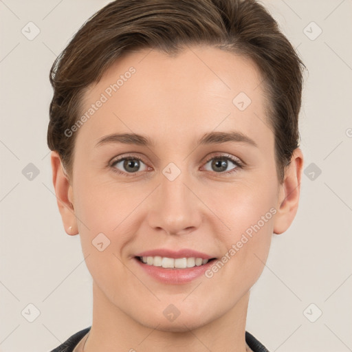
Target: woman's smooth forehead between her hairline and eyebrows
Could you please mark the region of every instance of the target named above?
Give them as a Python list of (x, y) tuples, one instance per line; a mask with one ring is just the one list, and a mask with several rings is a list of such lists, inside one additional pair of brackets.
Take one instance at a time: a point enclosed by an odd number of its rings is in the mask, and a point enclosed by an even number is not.
[(89, 119), (77, 141), (88, 147), (124, 132), (177, 146), (231, 129), (267, 144), (272, 131), (261, 81), (248, 58), (213, 47), (187, 48), (173, 57), (150, 49), (129, 53), (87, 89), (81, 113)]

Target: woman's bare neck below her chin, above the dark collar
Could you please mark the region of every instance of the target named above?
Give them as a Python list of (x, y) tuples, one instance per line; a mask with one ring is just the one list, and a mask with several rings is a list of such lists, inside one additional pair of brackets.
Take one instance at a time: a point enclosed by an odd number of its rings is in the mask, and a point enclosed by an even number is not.
[(209, 322), (190, 324), (177, 331), (146, 327), (113, 305), (93, 283), (93, 322), (85, 352), (246, 352), (245, 322), (250, 292), (245, 294), (230, 311)]

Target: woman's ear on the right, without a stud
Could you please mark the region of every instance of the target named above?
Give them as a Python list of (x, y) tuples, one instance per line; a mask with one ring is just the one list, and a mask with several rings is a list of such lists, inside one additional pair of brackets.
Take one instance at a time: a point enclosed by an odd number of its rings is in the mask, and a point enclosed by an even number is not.
[(296, 148), (291, 158), (291, 163), (285, 170), (283, 184), (279, 186), (279, 197), (277, 212), (274, 220), (274, 234), (285, 232), (298, 209), (300, 198), (300, 179), (303, 170), (303, 153), (300, 148)]

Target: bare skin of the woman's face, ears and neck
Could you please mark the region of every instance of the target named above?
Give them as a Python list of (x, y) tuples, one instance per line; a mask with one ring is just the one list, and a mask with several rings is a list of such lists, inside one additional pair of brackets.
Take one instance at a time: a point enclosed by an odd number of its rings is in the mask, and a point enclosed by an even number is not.
[[(67, 234), (80, 235), (93, 278), (85, 352), (250, 351), (250, 289), (272, 234), (285, 232), (296, 215), (303, 153), (294, 151), (279, 184), (259, 71), (248, 59), (213, 47), (188, 47), (172, 58), (155, 50), (124, 56), (89, 87), (82, 112), (131, 66), (135, 74), (75, 132), (72, 175), (65, 175), (55, 151), (51, 155), (63, 225)], [(244, 111), (232, 103), (241, 91), (252, 100)], [(258, 148), (244, 142), (196, 146), (205, 133), (234, 130)], [(151, 137), (155, 146), (95, 146), (104, 135), (132, 132)], [(123, 162), (109, 166), (113, 157), (131, 153), (143, 159), (137, 173)], [(232, 162), (221, 172), (207, 163), (224, 153), (245, 167), (225, 175), (236, 167)], [(173, 181), (162, 173), (170, 162), (181, 170)], [(191, 248), (220, 259), (270, 208), (276, 214), (211, 278), (159, 283), (133, 259), (155, 248)], [(91, 243), (100, 232), (111, 241), (102, 252)], [(163, 314), (170, 304), (180, 312), (173, 322)]]

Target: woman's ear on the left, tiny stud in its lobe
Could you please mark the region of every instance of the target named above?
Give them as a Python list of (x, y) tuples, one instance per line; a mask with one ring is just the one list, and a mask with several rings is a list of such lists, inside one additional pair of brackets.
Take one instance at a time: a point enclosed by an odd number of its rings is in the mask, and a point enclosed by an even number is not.
[(58, 210), (60, 211), (63, 225), (67, 234), (78, 234), (78, 226), (76, 215), (74, 214), (74, 197), (72, 185), (70, 184), (69, 177), (65, 173), (61, 158), (52, 151), (52, 182), (55, 188), (56, 199), (58, 203)]

